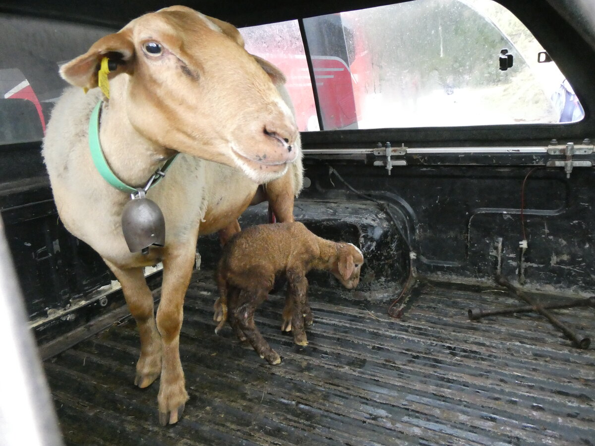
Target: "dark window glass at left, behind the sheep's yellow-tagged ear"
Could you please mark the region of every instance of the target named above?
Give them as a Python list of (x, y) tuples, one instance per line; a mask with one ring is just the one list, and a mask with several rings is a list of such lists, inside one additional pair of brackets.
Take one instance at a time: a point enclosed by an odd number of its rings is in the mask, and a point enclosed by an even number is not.
[(0, 145), (42, 139), (67, 85), (58, 64), (113, 30), (0, 14)]

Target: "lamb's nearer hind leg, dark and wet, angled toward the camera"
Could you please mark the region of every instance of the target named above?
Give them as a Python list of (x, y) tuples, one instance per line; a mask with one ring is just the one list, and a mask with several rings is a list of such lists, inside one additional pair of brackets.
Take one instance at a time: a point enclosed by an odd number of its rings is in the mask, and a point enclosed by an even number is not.
[(254, 312), (267, 299), (267, 295), (268, 292), (264, 290), (256, 291), (256, 293), (246, 290), (240, 291), (240, 301), (243, 303), (234, 308), (234, 317), (239, 322), (242, 331), (248, 338), (252, 348), (256, 350), (256, 353), (262, 359), (266, 359), (269, 364), (274, 365), (281, 362), (281, 357), (268, 345), (254, 323)]

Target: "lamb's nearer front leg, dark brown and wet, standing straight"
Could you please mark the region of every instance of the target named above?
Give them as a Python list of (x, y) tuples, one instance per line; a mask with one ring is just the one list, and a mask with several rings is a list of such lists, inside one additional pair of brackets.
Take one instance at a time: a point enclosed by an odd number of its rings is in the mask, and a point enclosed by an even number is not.
[[(293, 341), (298, 346), (307, 346), (308, 338), (303, 328), (304, 319), (309, 315), (309, 321), (312, 320), (312, 312), (308, 305), (308, 279), (301, 272), (287, 271), (287, 299), (286, 308), (283, 310), (283, 319), (291, 315), (291, 330), (293, 332)], [(289, 310), (288, 305), (289, 303)], [(286, 313), (287, 310), (287, 313)], [(306, 319), (308, 321), (308, 319)]]

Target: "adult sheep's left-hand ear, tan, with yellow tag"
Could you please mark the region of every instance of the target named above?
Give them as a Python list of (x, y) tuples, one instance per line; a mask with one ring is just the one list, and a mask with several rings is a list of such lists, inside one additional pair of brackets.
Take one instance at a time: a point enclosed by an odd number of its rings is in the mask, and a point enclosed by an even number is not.
[(92, 89), (97, 86), (97, 73), (101, 66), (101, 59), (108, 57), (117, 66), (110, 70), (108, 77), (112, 78), (121, 73), (132, 73), (132, 59), (134, 58), (134, 43), (129, 30), (108, 34), (93, 43), (89, 51), (82, 56), (67, 62), (60, 68), (60, 76), (77, 87)]

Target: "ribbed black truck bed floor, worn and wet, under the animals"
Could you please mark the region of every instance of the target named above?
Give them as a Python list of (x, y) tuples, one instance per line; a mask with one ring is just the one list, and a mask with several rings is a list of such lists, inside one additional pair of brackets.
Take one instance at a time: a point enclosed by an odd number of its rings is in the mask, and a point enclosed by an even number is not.
[[(270, 366), (229, 328), (214, 334), (212, 272), (184, 307), (180, 354), (190, 400), (158, 425), (158, 382), (133, 385), (139, 340), (127, 320), (46, 360), (65, 442), (81, 445), (595, 444), (595, 351), (540, 316), (468, 321), (469, 307), (517, 302), (499, 290), (426, 282), (400, 320), (387, 304), (312, 287), (309, 346), (281, 334), (281, 295), (257, 324)], [(595, 332), (593, 309), (559, 310)]]

